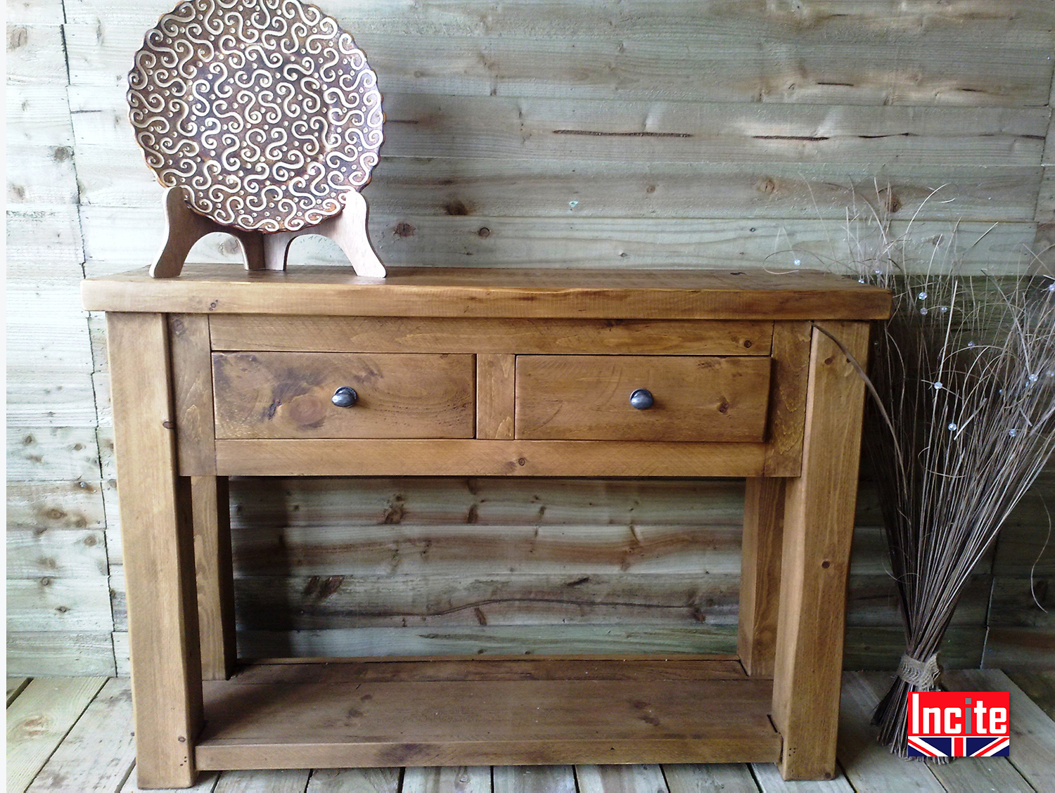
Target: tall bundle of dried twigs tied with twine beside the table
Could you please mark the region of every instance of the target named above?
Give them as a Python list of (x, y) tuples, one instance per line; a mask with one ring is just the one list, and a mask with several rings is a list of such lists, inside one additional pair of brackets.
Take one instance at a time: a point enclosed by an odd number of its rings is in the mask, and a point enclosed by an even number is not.
[(895, 295), (874, 342), (865, 448), (906, 642), (874, 722), (904, 757), (908, 693), (938, 688), (960, 593), (1055, 450), (1055, 279), (967, 278), (953, 244), (921, 263), (875, 214), (847, 228), (860, 279)]

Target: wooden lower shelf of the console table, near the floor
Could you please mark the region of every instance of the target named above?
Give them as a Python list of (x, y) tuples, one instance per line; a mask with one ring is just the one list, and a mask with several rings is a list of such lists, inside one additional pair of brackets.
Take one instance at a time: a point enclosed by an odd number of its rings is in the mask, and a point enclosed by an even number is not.
[(202, 770), (769, 762), (772, 682), (735, 660), (255, 664), (205, 683)]

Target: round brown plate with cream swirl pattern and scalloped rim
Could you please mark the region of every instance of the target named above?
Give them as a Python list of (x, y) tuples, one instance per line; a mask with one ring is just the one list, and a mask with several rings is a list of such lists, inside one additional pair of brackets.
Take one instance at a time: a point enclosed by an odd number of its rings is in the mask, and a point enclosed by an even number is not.
[(337, 20), (300, 0), (188, 0), (129, 73), (147, 165), (196, 212), (296, 231), (344, 208), (381, 147), (377, 75)]

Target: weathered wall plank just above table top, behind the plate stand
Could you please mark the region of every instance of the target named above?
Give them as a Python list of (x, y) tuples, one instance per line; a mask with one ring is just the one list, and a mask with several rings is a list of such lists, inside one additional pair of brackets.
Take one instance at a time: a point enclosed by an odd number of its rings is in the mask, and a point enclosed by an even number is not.
[[(152, 240), (161, 234), (157, 210), (84, 207), (82, 212), (90, 275), (139, 267), (156, 253)], [(735, 267), (780, 273), (828, 269), (843, 274), (845, 265), (839, 263), (852, 262), (857, 245), (884, 245), (874, 226), (847, 226), (845, 212), (844, 207), (841, 220), (676, 219), (636, 213), (568, 219), (371, 212), (370, 237), (390, 268), (464, 268), (476, 264), (529, 270)], [(862, 207), (861, 212), (866, 215), (869, 210)], [(899, 246), (903, 244), (913, 257), (933, 259), (939, 272), (948, 271), (955, 260), (958, 272), (965, 275), (1024, 271), (1030, 262), (1025, 250), (1033, 246), (1036, 232), (1032, 220), (995, 227), (992, 223), (964, 221), (955, 229), (947, 221), (897, 220), (887, 230), (889, 238), (899, 239)], [(232, 238), (224, 234), (205, 237), (190, 260), (244, 264)], [(291, 247), (289, 264), (291, 269), (304, 265), (347, 268), (347, 259), (332, 244), (310, 235), (298, 238)]]

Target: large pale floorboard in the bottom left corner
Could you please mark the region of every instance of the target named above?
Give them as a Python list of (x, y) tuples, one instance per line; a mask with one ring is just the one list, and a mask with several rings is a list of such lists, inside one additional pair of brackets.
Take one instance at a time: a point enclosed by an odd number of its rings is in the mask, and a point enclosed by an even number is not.
[(7, 791), (22, 793), (62, 742), (104, 677), (34, 679), (7, 709)]

